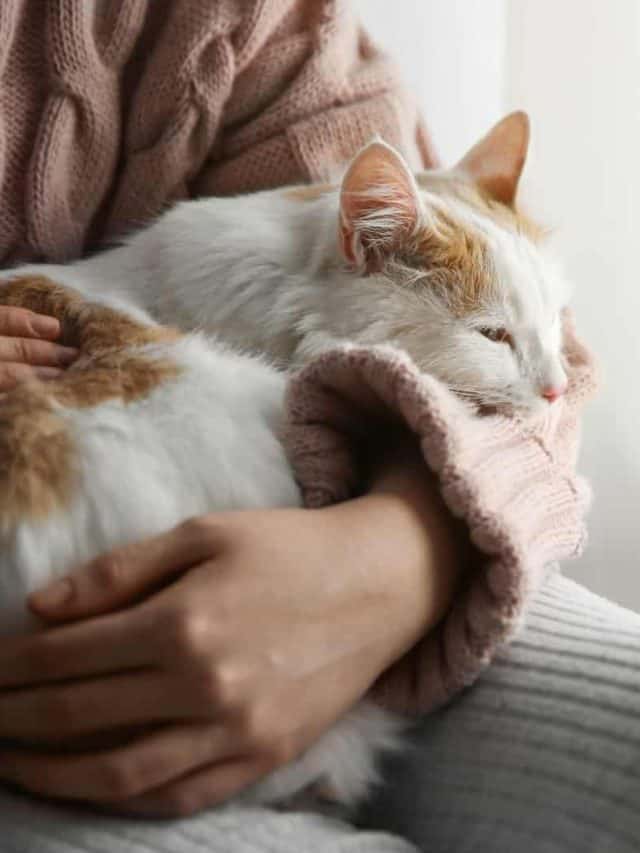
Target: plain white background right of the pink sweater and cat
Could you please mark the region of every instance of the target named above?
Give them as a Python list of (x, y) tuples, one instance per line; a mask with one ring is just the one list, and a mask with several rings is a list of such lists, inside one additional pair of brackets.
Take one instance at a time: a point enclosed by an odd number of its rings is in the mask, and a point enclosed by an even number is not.
[(602, 389), (581, 469), (590, 545), (565, 572), (640, 610), (640, 2), (354, 0), (400, 65), (443, 162), (514, 108), (532, 118), (522, 198), (554, 229)]

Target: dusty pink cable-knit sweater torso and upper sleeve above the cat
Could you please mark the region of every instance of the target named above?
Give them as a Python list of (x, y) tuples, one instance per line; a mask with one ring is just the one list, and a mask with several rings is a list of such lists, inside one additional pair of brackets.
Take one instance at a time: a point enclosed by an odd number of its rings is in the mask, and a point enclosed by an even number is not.
[(347, 0), (2, 0), (0, 261), (69, 260), (193, 195), (433, 155)]

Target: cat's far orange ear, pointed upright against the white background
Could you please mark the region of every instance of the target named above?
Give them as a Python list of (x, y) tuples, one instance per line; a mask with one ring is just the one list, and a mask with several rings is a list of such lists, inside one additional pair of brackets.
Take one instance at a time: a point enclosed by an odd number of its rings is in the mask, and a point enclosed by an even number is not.
[(465, 154), (456, 170), (496, 201), (512, 207), (529, 147), (529, 117), (515, 112), (498, 122)]

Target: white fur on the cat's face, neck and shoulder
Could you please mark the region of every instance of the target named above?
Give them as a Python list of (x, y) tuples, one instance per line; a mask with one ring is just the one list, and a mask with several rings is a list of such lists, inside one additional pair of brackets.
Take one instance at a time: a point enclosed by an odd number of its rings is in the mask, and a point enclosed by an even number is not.
[[(114, 307), (137, 308), (138, 317), (214, 333), (285, 367), (336, 341), (392, 342), (461, 393), (535, 411), (542, 389), (566, 379), (559, 317), (569, 294), (555, 261), (461, 201), (417, 191), (424, 223), (443, 208), (489, 246), (498, 297), (474, 314), (453, 316), (431, 286), (437, 270), (405, 267), (399, 285), (386, 272), (364, 275), (345, 264), (338, 189), (305, 202), (282, 190), (182, 202), (123, 246), (35, 269)], [(506, 327), (515, 351), (483, 338), (486, 325)]]

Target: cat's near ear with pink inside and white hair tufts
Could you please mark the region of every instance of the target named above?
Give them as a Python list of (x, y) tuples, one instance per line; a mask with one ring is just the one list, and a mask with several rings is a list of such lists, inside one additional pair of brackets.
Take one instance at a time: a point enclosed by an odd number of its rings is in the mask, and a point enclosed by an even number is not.
[(400, 154), (381, 140), (355, 157), (340, 190), (340, 246), (349, 261), (376, 272), (416, 230), (418, 187)]

